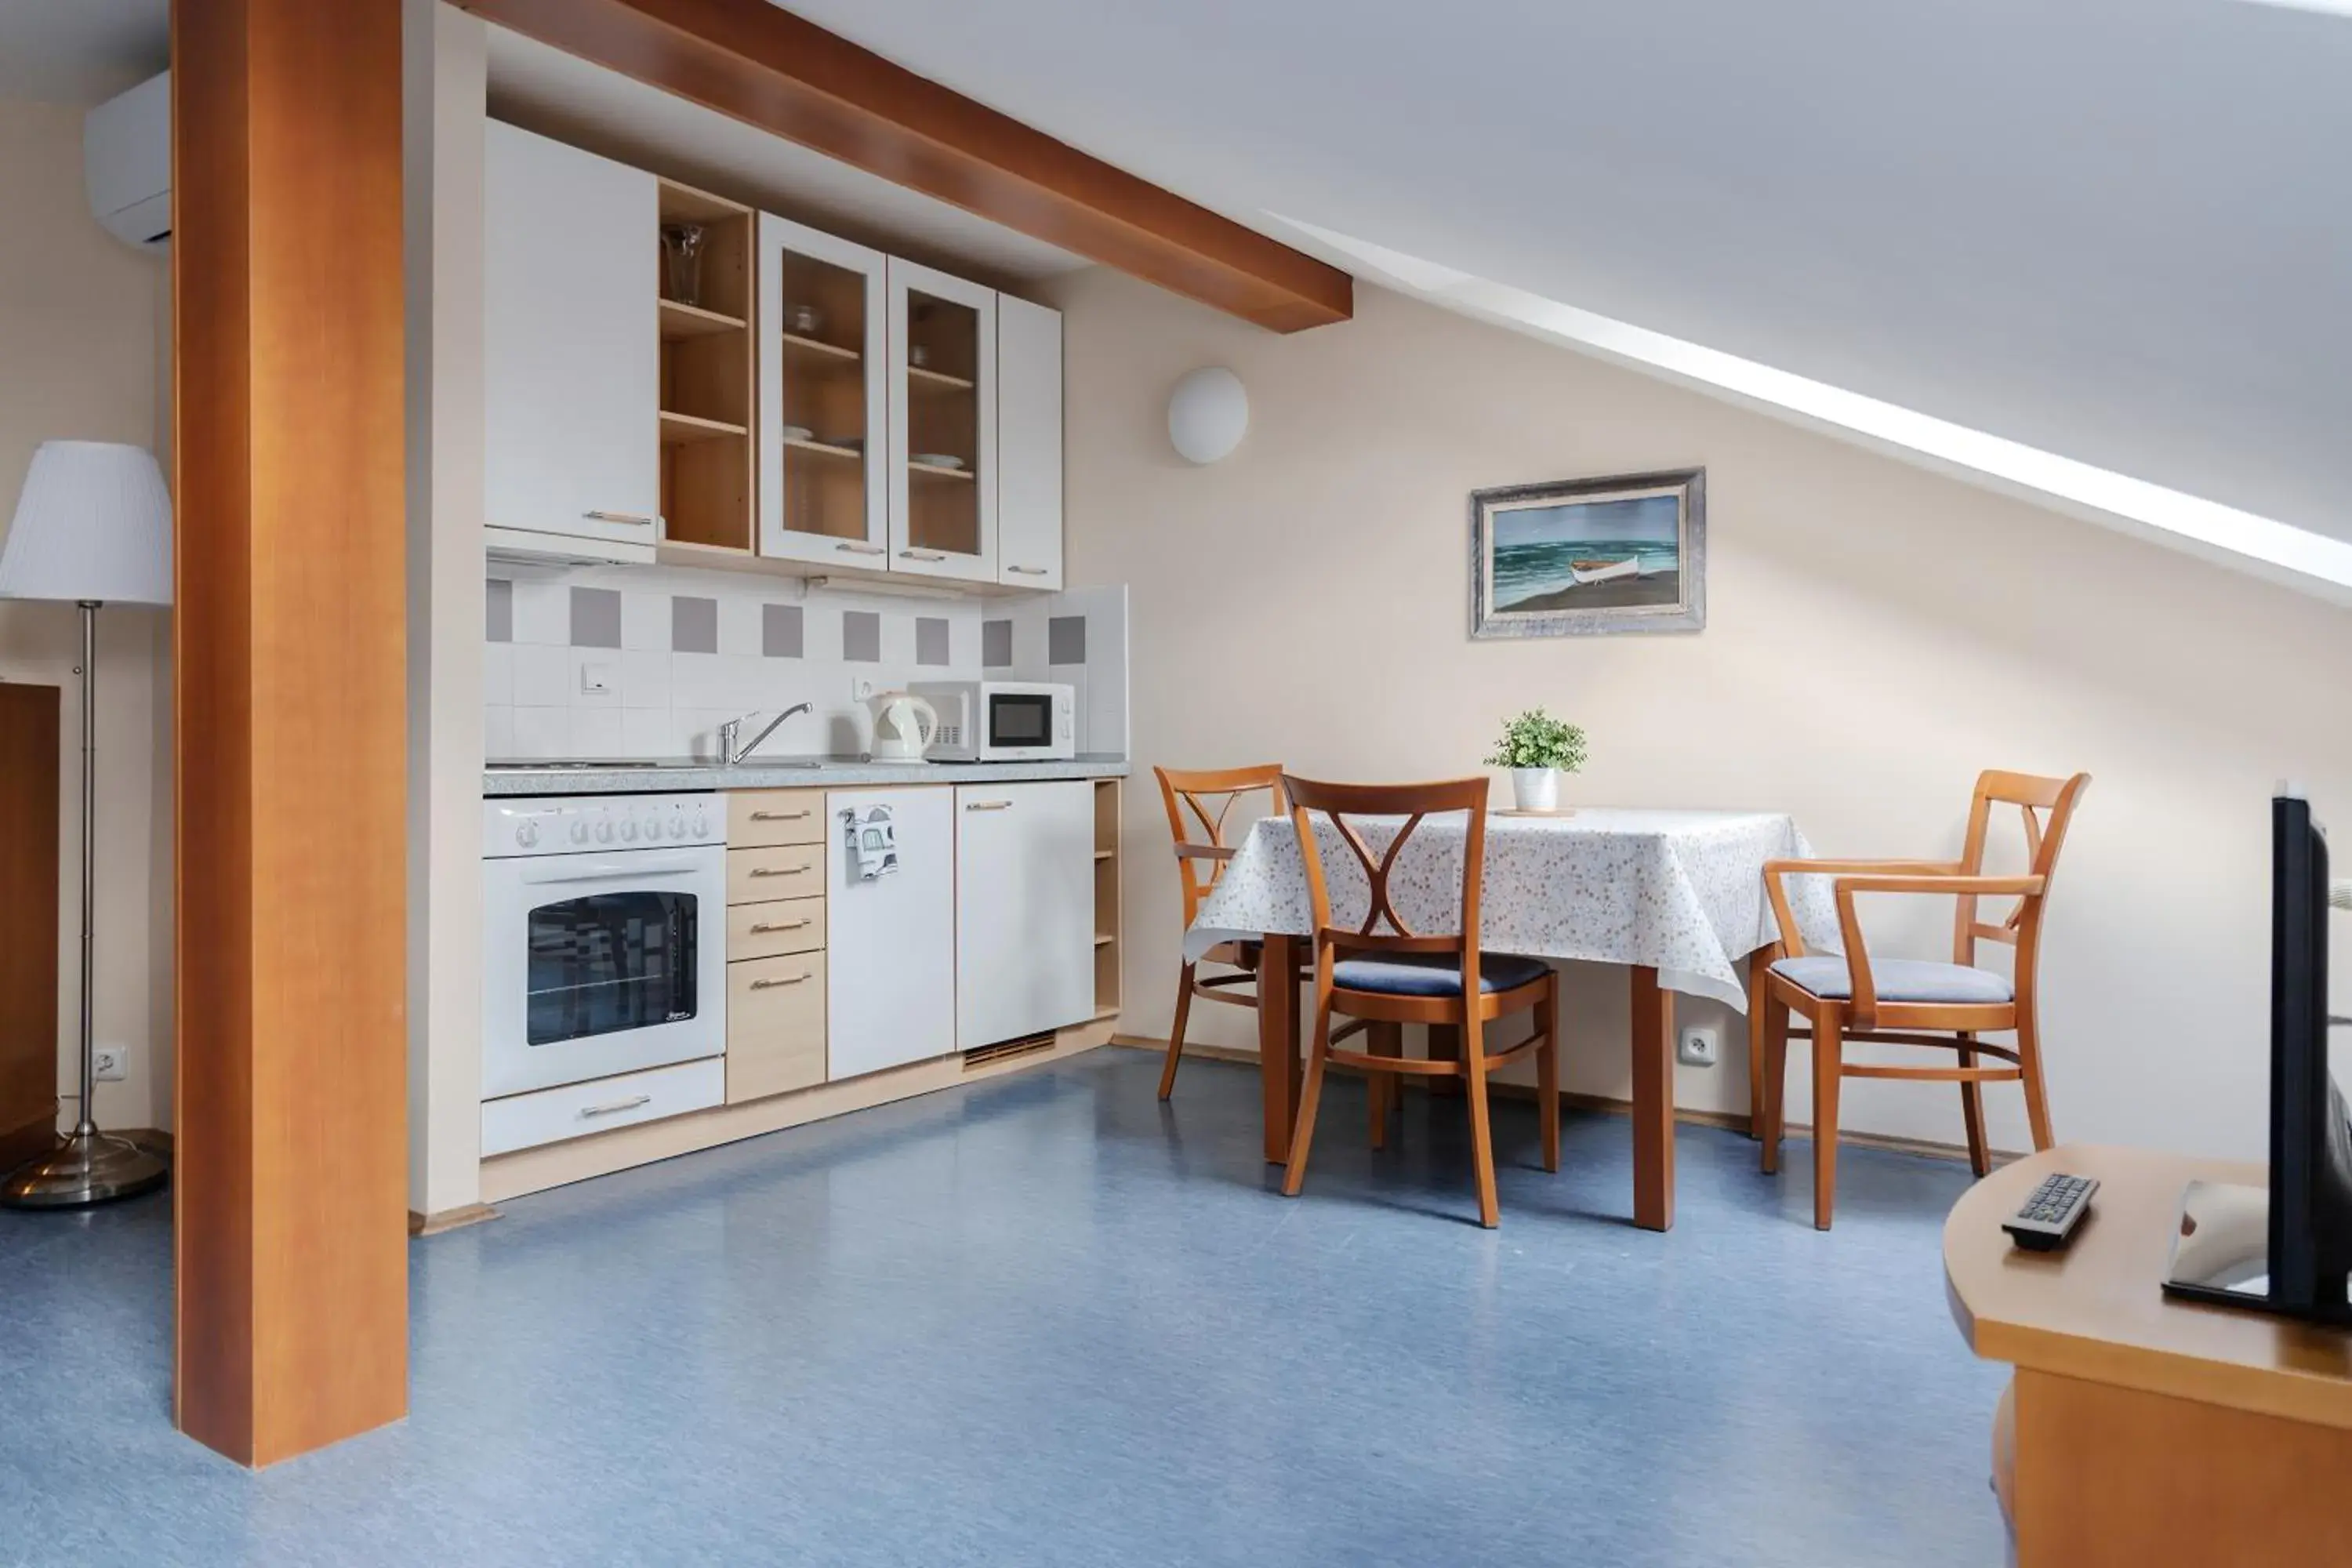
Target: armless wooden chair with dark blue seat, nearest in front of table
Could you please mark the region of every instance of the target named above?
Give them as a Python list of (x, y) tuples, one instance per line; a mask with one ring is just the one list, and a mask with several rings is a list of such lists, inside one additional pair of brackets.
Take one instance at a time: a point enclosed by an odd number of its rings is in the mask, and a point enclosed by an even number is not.
[[(1543, 959), (1505, 952), (1479, 952), (1477, 893), (1486, 860), (1486, 780), (1456, 778), (1423, 785), (1343, 785), (1310, 778), (1284, 778), (1291, 797), (1291, 825), (1298, 830), (1298, 856), (1308, 870), (1308, 893), (1315, 907), (1315, 1041), (1308, 1056), (1308, 1081), (1298, 1095), (1298, 1126), (1291, 1133), (1291, 1164), (1282, 1192), (1298, 1197), (1308, 1175), (1308, 1150), (1315, 1143), (1315, 1110), (1322, 1103), (1324, 1070), (1331, 1063), (1369, 1077), (1371, 1147), (1385, 1143), (1388, 1112), (1402, 1098), (1402, 1074), (1461, 1077), (1470, 1100), (1470, 1157), (1477, 1166), (1477, 1218), (1494, 1229), (1501, 1211), (1494, 1197), (1494, 1131), (1486, 1119), (1486, 1077), (1529, 1051), (1536, 1053), (1536, 1093), (1543, 1114), (1543, 1168), (1559, 1168), (1559, 976)], [(1310, 813), (1324, 813), (1338, 827), (1341, 842), (1364, 867), (1369, 900), (1359, 926), (1331, 924), (1331, 886), (1324, 879), (1322, 851)], [(1404, 844), (1435, 813), (1468, 813), (1463, 844), (1461, 926), (1454, 936), (1411, 931), (1390, 900), (1388, 877)], [(1374, 856), (1348, 818), (1402, 816), (1404, 825), (1381, 856)], [(1381, 922), (1388, 931), (1378, 931)], [(1536, 1011), (1536, 1032), (1508, 1051), (1486, 1051), (1484, 1025), (1510, 1013)], [(1355, 1023), (1331, 1030), (1331, 1016)], [(1458, 1060), (1421, 1060), (1404, 1056), (1404, 1025), (1454, 1025), (1463, 1034)], [(1369, 1051), (1338, 1051), (1341, 1039), (1364, 1034)]]

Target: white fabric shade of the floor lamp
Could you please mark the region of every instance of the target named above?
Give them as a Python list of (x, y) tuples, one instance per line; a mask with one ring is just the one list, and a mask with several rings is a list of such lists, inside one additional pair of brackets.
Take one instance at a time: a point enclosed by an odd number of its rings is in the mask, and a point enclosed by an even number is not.
[(172, 494), (146, 447), (42, 442), (0, 548), (0, 597), (172, 602)]

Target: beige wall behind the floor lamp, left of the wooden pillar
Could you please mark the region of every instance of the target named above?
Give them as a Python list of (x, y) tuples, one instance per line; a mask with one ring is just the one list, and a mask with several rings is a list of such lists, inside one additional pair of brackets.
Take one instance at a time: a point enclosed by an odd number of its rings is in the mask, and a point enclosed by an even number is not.
[[(82, 110), (0, 99), (0, 527), (42, 440), (158, 447), (169, 268), (113, 240), (82, 195)], [(158, 715), (169, 708), (167, 611), (99, 616), (96, 1034), (129, 1046), (129, 1074), (99, 1086), (106, 1126), (169, 1126), (169, 799)], [(80, 649), (71, 604), (0, 604), (0, 679), (59, 686), (59, 1084), (75, 1091), (80, 943)], [(73, 1105), (61, 1107), (71, 1124)]]

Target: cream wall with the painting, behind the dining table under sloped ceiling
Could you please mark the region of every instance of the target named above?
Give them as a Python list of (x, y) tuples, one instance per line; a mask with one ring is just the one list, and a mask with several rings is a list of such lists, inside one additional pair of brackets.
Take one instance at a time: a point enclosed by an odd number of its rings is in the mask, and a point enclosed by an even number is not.
[[(1122, 1027), (1164, 1034), (1178, 896), (1152, 764), (1479, 771), (1498, 722), (1585, 724), (1585, 802), (1792, 811), (1823, 853), (1957, 853), (1985, 766), (2086, 769), (2044, 985), (2058, 1135), (2263, 1154), (2267, 797), (2352, 820), (2352, 614), (1378, 289), (1272, 336), (1108, 270), (1063, 280), (1073, 581), (1131, 585)], [(1167, 393), (1230, 364), (1214, 468)], [(1470, 642), (1468, 491), (1708, 468), (1708, 630)], [(1950, 905), (1884, 910), (1943, 957)], [(1195, 1009), (1200, 1039), (1249, 1018)], [(1564, 1077), (1628, 1095), (1625, 987), (1573, 966)], [(1745, 1112), (1745, 1023), (1677, 1100)], [(1809, 1117), (1802, 1070), (1790, 1114)], [(2025, 1147), (2016, 1091), (1994, 1143)], [(1943, 1086), (1853, 1081), (1846, 1126), (1957, 1143)]]

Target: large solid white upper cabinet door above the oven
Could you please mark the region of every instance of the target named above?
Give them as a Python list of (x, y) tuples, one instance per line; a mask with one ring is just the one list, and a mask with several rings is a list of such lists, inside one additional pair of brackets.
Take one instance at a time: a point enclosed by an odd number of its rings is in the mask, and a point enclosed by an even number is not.
[(482, 153), (485, 524), (652, 559), (656, 181), (496, 120)]

